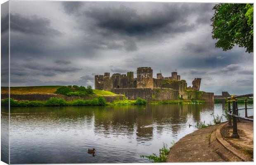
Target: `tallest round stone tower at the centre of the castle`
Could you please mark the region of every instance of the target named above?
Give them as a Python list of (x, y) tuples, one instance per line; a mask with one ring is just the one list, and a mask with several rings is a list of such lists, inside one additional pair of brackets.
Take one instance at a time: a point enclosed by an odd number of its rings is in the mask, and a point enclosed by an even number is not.
[(153, 88), (153, 70), (151, 67), (137, 68), (137, 88)]

